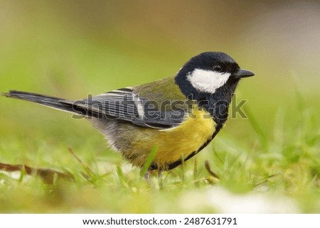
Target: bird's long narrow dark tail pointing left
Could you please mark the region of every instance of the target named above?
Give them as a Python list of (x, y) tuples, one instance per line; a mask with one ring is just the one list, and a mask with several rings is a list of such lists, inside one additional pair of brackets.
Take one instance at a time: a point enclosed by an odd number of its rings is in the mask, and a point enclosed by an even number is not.
[(2, 94), (5, 97), (12, 97), (17, 99), (24, 99), (29, 102), (36, 102), (54, 109), (60, 109), (66, 112), (72, 112), (76, 114), (82, 114), (79, 108), (74, 104), (75, 102), (61, 99), (58, 97), (50, 97), (43, 94), (36, 94), (33, 92), (22, 92), (16, 90), (10, 90), (7, 93)]

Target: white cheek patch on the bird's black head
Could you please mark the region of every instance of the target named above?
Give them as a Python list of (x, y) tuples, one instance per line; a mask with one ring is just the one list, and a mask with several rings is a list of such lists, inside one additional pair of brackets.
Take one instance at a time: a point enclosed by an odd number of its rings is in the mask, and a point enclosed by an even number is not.
[(199, 92), (208, 92), (213, 94), (218, 88), (225, 85), (228, 81), (230, 73), (214, 72), (213, 70), (195, 69), (189, 72), (187, 80)]

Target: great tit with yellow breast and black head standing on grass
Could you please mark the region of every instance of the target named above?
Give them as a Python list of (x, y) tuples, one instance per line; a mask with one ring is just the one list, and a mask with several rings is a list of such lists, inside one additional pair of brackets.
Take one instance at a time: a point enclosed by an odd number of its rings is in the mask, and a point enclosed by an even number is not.
[(171, 170), (201, 151), (222, 129), (240, 79), (255, 75), (229, 55), (206, 52), (173, 77), (68, 100), (11, 90), (3, 95), (85, 116), (114, 151), (142, 168), (156, 146), (150, 170)]

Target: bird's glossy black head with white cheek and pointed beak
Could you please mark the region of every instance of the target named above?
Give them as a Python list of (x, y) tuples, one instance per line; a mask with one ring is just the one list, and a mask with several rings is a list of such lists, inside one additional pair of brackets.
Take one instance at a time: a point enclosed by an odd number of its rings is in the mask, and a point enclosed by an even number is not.
[(235, 86), (243, 77), (255, 73), (240, 69), (229, 55), (220, 52), (206, 52), (191, 58), (176, 75), (176, 83), (183, 94), (214, 94), (219, 88)]

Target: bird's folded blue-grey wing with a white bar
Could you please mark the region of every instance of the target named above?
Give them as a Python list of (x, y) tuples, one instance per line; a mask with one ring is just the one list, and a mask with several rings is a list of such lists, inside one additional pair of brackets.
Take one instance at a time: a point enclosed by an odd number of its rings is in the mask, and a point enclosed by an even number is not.
[(163, 107), (163, 104), (139, 97), (132, 89), (124, 88), (75, 101), (73, 107), (82, 109), (79, 113), (86, 112), (88, 118), (92, 115), (99, 119), (117, 119), (137, 126), (168, 129), (178, 126), (185, 118), (182, 103), (166, 102)]

